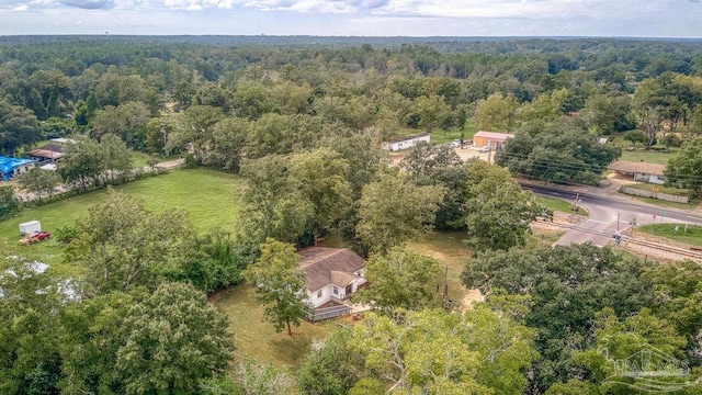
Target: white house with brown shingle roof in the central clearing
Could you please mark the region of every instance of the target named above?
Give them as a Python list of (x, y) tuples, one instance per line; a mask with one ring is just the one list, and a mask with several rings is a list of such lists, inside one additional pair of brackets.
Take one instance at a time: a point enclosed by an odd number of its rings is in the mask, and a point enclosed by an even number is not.
[(299, 251), (307, 302), (315, 308), (342, 304), (365, 283), (365, 261), (348, 248), (309, 247)]

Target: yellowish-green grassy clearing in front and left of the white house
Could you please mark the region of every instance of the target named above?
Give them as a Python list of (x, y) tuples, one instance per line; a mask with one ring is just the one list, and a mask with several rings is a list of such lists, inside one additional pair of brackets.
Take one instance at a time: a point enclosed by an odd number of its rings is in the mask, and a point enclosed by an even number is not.
[(257, 302), (256, 291), (248, 285), (217, 294), (215, 306), (229, 317), (229, 330), (234, 334), (237, 352), (258, 361), (278, 366), (298, 368), (305, 354), (317, 339), (325, 339), (338, 330), (339, 320), (310, 324), (305, 320), (287, 330), (275, 332), (272, 324), (263, 318), (263, 306)]

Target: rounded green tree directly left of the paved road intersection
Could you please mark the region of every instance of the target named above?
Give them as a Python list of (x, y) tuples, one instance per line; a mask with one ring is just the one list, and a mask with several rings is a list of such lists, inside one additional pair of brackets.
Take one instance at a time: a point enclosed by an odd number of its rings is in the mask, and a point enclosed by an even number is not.
[(482, 160), (467, 163), (463, 221), (468, 245), (478, 250), (509, 249), (526, 244), (530, 224), (552, 213), (512, 181), (509, 171)]

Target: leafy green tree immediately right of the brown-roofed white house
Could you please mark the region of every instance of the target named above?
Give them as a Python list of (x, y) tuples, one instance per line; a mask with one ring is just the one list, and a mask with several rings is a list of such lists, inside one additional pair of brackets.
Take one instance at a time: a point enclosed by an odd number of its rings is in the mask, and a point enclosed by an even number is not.
[(396, 308), (430, 307), (438, 273), (437, 260), (395, 248), (384, 256), (371, 256), (364, 273), (371, 286), (360, 290), (353, 298), (388, 315)]

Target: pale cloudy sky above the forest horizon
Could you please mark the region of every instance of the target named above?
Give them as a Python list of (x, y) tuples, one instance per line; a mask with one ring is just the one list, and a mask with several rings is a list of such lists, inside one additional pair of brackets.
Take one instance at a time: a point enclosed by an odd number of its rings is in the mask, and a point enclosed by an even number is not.
[(702, 0), (0, 0), (0, 35), (702, 38)]

